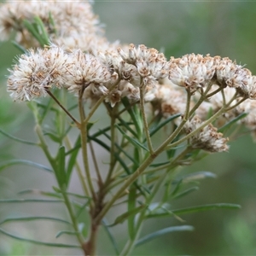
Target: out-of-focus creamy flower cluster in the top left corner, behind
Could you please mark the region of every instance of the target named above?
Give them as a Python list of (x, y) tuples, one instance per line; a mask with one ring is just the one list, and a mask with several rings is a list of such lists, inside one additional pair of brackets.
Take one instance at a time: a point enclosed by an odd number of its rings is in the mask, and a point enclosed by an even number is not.
[(26, 48), (38, 45), (23, 23), (23, 20), (33, 22), (38, 16), (43, 20), (51, 42), (65, 49), (94, 51), (107, 49), (110, 45), (102, 36), (90, 1), (7, 1), (0, 8), (0, 40), (8, 39), (15, 30), (15, 40), (19, 44)]

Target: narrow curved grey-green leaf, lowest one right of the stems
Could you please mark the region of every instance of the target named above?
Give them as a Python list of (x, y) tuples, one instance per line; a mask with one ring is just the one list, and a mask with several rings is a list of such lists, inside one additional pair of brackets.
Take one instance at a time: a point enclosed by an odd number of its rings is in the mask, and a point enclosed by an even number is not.
[(162, 230), (158, 230), (155, 231), (147, 236), (143, 236), (143, 238), (139, 239), (136, 243), (135, 246), (140, 246), (143, 243), (146, 243), (148, 241), (151, 241), (155, 238), (158, 238), (159, 236), (163, 236), (166, 235), (168, 233), (172, 233), (172, 232), (179, 232), (179, 231), (193, 231), (194, 227), (193, 226), (189, 226), (189, 225), (183, 225), (183, 226), (174, 226), (174, 227), (169, 227), (166, 229), (162, 229)]

